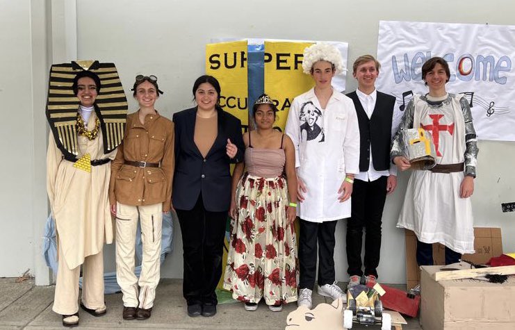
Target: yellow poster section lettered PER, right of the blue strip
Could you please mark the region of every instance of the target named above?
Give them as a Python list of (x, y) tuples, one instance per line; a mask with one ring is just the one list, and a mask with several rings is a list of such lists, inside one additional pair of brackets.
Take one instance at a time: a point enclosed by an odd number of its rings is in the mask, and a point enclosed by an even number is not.
[(302, 53), (311, 44), (265, 41), (265, 93), (277, 101), (275, 126), (282, 131), (293, 98), (313, 87), (311, 76), (302, 72)]

